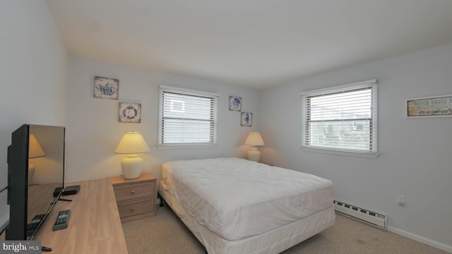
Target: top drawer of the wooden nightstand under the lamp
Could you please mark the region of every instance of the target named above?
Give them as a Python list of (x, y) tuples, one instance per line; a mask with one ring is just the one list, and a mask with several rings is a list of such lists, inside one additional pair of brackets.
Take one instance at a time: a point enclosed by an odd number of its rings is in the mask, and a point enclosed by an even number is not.
[(145, 198), (155, 195), (155, 182), (137, 183), (133, 185), (114, 186), (114, 195), (117, 202), (131, 200), (132, 198)]

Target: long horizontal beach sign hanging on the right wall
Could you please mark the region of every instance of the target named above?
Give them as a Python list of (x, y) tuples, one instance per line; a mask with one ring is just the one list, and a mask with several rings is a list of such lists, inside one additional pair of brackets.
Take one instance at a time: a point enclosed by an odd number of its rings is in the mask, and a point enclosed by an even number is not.
[(407, 99), (408, 117), (452, 117), (452, 95)]

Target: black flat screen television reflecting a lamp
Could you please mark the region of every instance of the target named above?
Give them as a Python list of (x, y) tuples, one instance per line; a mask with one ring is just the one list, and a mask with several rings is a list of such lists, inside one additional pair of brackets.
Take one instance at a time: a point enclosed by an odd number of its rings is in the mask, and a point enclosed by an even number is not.
[(62, 126), (24, 124), (8, 146), (6, 240), (32, 240), (64, 190)]

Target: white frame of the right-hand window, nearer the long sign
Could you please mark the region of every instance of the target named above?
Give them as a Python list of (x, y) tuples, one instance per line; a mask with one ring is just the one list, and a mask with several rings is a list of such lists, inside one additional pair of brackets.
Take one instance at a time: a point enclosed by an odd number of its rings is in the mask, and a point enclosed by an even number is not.
[[(307, 127), (307, 98), (317, 97), (322, 95), (333, 95), (338, 92), (350, 92), (352, 90), (371, 89), (371, 118), (369, 118), (369, 150), (358, 150), (350, 148), (341, 148), (333, 146), (321, 146), (309, 144), (308, 138), (311, 137), (307, 134), (309, 128)], [(365, 80), (356, 83), (349, 83), (345, 85), (338, 85), (334, 87), (326, 87), (319, 90), (310, 90), (306, 92), (300, 92), (302, 97), (302, 124), (300, 132), (300, 146), (303, 150), (308, 152), (323, 152), (333, 155), (346, 155), (355, 157), (378, 157), (378, 83), (377, 80)], [(343, 119), (343, 121), (350, 121), (351, 119)], [(328, 122), (328, 121), (327, 121)]]

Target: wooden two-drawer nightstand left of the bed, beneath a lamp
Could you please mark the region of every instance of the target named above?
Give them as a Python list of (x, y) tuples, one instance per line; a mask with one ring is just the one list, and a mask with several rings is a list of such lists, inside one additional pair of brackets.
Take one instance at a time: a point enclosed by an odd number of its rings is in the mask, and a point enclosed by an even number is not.
[(155, 215), (157, 178), (153, 174), (142, 173), (138, 179), (112, 176), (111, 181), (121, 222)]

